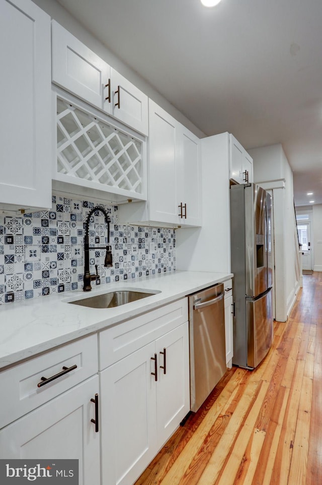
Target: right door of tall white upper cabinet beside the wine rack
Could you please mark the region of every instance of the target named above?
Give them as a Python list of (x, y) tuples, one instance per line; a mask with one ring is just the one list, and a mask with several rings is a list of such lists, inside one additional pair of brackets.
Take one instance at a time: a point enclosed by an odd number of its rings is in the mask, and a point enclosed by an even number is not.
[(179, 192), (179, 214), (183, 204), (182, 217), (179, 221), (185, 225), (201, 225), (201, 161), (200, 140), (181, 125), (180, 164), (177, 171)]

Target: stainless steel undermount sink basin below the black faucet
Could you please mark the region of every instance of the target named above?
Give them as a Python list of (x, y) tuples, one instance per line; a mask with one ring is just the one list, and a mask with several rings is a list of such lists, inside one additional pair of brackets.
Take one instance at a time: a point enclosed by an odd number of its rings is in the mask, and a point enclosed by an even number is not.
[(143, 291), (120, 290), (103, 293), (100, 295), (90, 296), (89, 298), (82, 298), (74, 301), (68, 301), (73, 305), (81, 305), (82, 307), (91, 308), (113, 308), (120, 307), (131, 301), (136, 301), (147, 296), (152, 296), (155, 293), (144, 293)]

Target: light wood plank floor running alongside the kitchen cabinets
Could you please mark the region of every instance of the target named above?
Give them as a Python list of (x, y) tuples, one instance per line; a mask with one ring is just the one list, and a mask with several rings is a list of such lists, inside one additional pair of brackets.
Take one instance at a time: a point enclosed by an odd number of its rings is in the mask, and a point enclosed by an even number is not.
[(322, 273), (259, 368), (229, 370), (136, 485), (322, 484)]

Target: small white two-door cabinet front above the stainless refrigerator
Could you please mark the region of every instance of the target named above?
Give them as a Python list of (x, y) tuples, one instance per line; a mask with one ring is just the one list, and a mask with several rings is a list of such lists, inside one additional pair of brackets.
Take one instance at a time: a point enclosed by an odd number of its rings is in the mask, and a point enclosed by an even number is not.
[(229, 178), (237, 184), (248, 184), (253, 182), (253, 159), (245, 148), (229, 135), (230, 143), (230, 176)]

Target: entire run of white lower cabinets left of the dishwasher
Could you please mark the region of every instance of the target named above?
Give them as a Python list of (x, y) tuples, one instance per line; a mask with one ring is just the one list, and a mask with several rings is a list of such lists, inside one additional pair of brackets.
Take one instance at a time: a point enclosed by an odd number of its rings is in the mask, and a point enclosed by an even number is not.
[(78, 459), (79, 485), (130, 485), (190, 410), (187, 298), (18, 363), (0, 385), (1, 458)]

